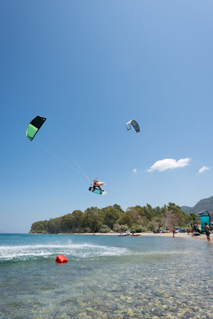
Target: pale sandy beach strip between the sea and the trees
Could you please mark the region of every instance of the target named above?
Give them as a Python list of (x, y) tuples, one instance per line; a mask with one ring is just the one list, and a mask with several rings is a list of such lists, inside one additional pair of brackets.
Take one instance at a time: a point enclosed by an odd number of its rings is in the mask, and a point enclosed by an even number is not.
[[(112, 236), (117, 236), (118, 233), (115, 234), (110, 234), (110, 233), (94, 233), (95, 235), (112, 235)], [(173, 233), (159, 233), (159, 234), (154, 234), (154, 233), (137, 233), (140, 234), (140, 236), (158, 236), (158, 237), (173, 237)], [(200, 235), (200, 236), (191, 236), (192, 233), (177, 233), (175, 234), (176, 238), (188, 238), (188, 239), (199, 239), (202, 241), (207, 241), (206, 235)], [(71, 235), (93, 235), (92, 233), (84, 233), (84, 234), (71, 234)], [(210, 241), (213, 242), (213, 234), (210, 234)]]

